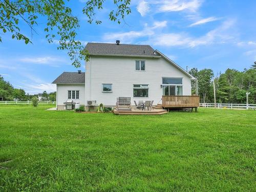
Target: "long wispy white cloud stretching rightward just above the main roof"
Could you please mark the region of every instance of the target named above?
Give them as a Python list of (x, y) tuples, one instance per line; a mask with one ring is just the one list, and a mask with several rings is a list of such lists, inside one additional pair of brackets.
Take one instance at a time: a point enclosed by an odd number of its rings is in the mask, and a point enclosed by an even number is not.
[[(114, 41), (120, 39), (121, 42), (133, 43), (138, 38), (147, 38), (147, 40), (140, 41), (143, 44), (157, 45), (157, 46), (180, 46), (180, 47), (197, 47), (200, 45), (210, 44), (225, 44), (237, 42), (237, 33), (234, 31), (235, 21), (232, 19), (225, 20), (222, 25), (207, 32), (205, 35), (193, 37), (185, 32), (180, 33), (161, 33), (161, 28), (167, 26), (167, 22), (155, 22), (153, 26), (147, 25), (141, 31), (129, 31), (125, 33), (108, 33), (103, 36), (104, 41)], [(156, 30), (158, 30), (156, 32)], [(252, 42), (250, 43), (252, 44)]]

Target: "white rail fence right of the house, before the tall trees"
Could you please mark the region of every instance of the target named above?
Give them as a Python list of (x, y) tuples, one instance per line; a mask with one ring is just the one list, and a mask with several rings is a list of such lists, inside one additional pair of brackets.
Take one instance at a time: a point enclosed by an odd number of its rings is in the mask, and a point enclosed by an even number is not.
[[(214, 103), (200, 103), (203, 108), (214, 108)], [(216, 108), (256, 110), (256, 104), (216, 103)]]

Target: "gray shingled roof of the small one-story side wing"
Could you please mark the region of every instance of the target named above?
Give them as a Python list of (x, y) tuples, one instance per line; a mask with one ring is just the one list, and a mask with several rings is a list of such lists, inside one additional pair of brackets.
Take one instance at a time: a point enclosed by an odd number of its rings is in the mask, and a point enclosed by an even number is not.
[(52, 83), (84, 83), (86, 81), (85, 73), (81, 72), (63, 72)]

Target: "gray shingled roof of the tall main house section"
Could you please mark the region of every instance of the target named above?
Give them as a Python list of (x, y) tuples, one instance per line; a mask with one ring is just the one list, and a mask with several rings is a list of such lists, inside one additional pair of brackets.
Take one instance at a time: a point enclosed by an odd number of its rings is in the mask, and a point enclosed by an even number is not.
[(88, 42), (85, 47), (91, 55), (145, 55), (155, 56), (154, 49), (148, 45), (104, 44)]

